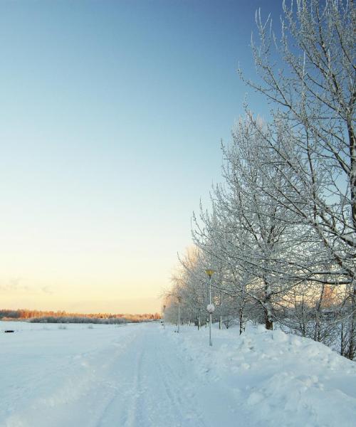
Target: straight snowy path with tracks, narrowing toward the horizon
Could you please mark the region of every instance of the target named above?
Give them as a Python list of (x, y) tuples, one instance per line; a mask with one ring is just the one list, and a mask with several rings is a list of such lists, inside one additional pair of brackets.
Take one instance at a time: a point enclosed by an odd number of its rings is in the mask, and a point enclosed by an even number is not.
[(184, 361), (167, 348), (157, 327), (141, 328), (110, 376), (117, 384), (104, 393), (107, 404), (93, 425), (206, 426), (187, 386)]

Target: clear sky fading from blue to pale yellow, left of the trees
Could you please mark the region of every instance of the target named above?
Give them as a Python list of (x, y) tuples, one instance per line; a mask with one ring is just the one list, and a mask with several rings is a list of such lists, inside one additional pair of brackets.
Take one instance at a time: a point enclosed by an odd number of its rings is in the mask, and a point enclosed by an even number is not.
[(281, 1), (0, 0), (0, 307), (159, 311)]

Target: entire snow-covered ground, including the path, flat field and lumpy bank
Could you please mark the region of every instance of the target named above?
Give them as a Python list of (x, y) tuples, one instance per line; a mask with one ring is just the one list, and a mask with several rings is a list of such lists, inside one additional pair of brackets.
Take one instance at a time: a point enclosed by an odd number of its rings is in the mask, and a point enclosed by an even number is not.
[(356, 426), (356, 363), (309, 339), (65, 327), (0, 322), (1, 427)]

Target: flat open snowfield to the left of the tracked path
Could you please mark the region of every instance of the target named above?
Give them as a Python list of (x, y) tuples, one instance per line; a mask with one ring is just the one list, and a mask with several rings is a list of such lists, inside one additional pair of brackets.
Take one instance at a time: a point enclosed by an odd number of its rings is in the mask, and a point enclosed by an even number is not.
[[(115, 388), (112, 364), (139, 333), (135, 325), (0, 322), (0, 426), (61, 426), (66, 418), (84, 426), (90, 404), (100, 411), (100, 388)], [(75, 411), (81, 399), (88, 406)]]

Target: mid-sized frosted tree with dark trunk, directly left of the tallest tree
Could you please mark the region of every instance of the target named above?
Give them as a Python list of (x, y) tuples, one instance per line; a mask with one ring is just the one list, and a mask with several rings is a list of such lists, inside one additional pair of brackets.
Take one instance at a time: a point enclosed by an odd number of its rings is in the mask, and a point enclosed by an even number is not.
[(243, 240), (235, 256), (249, 278), (246, 292), (261, 305), (266, 328), (272, 329), (273, 304), (293, 285), (287, 280), (287, 258), (295, 245), (295, 215), (273, 196), (271, 182), (282, 185), (284, 171), (276, 169), (268, 157), (261, 128), (260, 124), (256, 130), (249, 120), (236, 126), (232, 144), (224, 149), (226, 187), (217, 196), (228, 214), (226, 220), (240, 228)]

